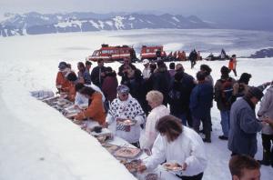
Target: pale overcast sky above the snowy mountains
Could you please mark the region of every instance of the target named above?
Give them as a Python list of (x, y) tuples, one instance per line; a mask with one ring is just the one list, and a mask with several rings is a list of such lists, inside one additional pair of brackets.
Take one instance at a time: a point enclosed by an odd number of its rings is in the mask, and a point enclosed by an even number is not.
[[(0, 16), (9, 13), (111, 12), (197, 15), (227, 25), (271, 25), (273, 0), (0, 0)], [(253, 23), (255, 22), (255, 23)], [(251, 25), (254, 24), (254, 25)]]

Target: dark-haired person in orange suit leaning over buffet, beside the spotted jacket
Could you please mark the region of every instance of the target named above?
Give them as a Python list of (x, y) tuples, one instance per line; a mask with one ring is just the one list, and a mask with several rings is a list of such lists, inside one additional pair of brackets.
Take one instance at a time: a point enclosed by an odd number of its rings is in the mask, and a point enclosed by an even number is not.
[(99, 125), (105, 125), (106, 111), (103, 105), (102, 95), (93, 88), (87, 86), (80, 90), (80, 94), (85, 95), (91, 103), (85, 111), (78, 113), (75, 119), (84, 120), (89, 118), (90, 120), (96, 121)]

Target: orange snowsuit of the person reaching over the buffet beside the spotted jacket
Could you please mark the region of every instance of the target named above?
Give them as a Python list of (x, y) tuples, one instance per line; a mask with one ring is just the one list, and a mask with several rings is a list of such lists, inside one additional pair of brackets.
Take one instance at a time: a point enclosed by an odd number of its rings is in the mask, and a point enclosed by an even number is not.
[(92, 100), (88, 108), (76, 115), (76, 120), (83, 120), (86, 117), (96, 121), (99, 125), (106, 124), (106, 111), (102, 101), (102, 95), (95, 92), (90, 99)]

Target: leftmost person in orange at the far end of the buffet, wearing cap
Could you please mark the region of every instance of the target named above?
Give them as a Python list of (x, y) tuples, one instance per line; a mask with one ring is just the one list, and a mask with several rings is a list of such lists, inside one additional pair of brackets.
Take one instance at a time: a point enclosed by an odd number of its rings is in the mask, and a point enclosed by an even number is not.
[(70, 71), (70, 69), (67, 67), (66, 62), (64, 61), (59, 63), (58, 68), (59, 71), (56, 75), (56, 88), (58, 93), (67, 92), (70, 83), (68, 80), (66, 80), (66, 73)]

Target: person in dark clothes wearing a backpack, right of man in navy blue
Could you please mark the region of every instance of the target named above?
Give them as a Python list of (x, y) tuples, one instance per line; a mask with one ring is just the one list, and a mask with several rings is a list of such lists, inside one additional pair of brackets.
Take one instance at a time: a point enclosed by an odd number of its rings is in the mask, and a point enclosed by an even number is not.
[(220, 72), (221, 78), (217, 80), (214, 86), (214, 99), (217, 102), (217, 108), (220, 111), (223, 131), (223, 135), (219, 135), (218, 138), (221, 140), (227, 140), (229, 131), (229, 113), (232, 103), (230, 99), (232, 97), (233, 85), (236, 81), (228, 75), (229, 69), (227, 66), (222, 66)]

